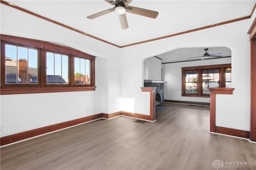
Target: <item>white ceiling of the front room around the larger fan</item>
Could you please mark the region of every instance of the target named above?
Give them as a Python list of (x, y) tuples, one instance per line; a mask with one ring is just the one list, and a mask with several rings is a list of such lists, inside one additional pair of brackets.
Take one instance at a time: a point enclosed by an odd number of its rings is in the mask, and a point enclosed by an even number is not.
[(133, 0), (129, 5), (158, 11), (156, 19), (126, 13), (128, 29), (121, 29), (115, 12), (90, 20), (112, 8), (104, 0), (6, 0), (118, 46), (129, 45), (215, 23), (250, 16), (255, 0)]

